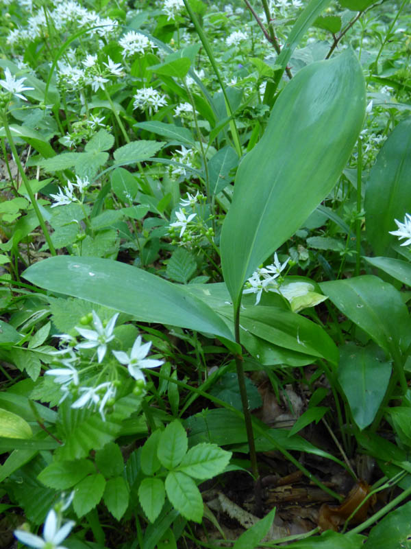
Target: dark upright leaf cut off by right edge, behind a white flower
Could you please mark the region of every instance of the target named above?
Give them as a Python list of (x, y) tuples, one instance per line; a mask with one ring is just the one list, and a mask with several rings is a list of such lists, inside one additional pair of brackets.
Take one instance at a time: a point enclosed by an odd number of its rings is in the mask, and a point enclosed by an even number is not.
[[(411, 118), (395, 126), (371, 168), (366, 183), (366, 236), (375, 255), (393, 255), (390, 245), (397, 237), (389, 231), (398, 229), (395, 219), (403, 223), (411, 211)], [(382, 207), (384, 205), (384, 207)]]

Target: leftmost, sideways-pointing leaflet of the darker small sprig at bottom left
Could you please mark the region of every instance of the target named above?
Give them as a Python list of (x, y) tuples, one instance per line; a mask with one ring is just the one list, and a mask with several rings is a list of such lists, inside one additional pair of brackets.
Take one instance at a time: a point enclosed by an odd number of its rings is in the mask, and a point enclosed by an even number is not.
[(38, 480), (49, 488), (66, 490), (93, 472), (95, 467), (88, 459), (55, 461), (41, 471)]

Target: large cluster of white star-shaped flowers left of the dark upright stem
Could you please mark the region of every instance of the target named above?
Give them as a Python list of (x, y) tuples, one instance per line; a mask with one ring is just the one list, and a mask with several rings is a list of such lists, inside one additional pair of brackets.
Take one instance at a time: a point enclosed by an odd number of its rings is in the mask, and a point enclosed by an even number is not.
[[(54, 357), (55, 368), (46, 372), (60, 385), (62, 397), (60, 403), (71, 396), (71, 408), (94, 408), (105, 421), (107, 408), (116, 402), (116, 393), (124, 377), (123, 366), (127, 366), (129, 375), (136, 379), (135, 393), (142, 392), (145, 386), (143, 371), (157, 368), (164, 360), (147, 358), (151, 342), (142, 343), (138, 336), (129, 354), (112, 349), (115, 346), (114, 327), (119, 313), (114, 314), (108, 323), (102, 323), (95, 311), (81, 319), (83, 326), (75, 327), (78, 336), (61, 334), (63, 346), (50, 351)], [(84, 326), (91, 324), (94, 329)], [(108, 352), (109, 347), (112, 355)], [(89, 349), (93, 349), (90, 353)]]

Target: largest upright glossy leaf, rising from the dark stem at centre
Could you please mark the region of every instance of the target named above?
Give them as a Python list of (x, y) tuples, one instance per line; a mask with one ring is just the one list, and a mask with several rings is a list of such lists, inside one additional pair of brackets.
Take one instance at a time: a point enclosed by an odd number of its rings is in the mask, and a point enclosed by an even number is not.
[(308, 65), (282, 91), (264, 136), (240, 163), (223, 224), (223, 274), (235, 303), (253, 270), (336, 183), (364, 109), (364, 78), (351, 50)]

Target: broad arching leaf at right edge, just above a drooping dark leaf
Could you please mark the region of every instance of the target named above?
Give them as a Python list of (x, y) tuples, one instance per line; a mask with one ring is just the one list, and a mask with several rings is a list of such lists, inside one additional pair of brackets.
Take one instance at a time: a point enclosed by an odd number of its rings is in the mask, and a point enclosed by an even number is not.
[(392, 285), (364, 275), (323, 282), (320, 286), (334, 305), (387, 353), (393, 344), (407, 349), (411, 337), (410, 315), (401, 294)]

